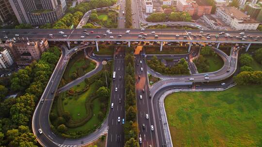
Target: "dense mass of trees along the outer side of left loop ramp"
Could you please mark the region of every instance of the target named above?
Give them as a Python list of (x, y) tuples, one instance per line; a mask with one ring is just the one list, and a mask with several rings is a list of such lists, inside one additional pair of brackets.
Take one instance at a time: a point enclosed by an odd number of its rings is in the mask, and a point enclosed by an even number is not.
[(49, 48), (38, 62), (13, 73), (10, 85), (5, 85), (20, 96), (0, 102), (0, 146), (36, 147), (30, 119), (60, 54), (58, 47)]

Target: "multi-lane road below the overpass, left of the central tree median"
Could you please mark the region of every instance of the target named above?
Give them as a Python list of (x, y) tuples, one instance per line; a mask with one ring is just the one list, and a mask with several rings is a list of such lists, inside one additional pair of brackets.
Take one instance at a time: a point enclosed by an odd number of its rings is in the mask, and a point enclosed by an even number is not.
[(115, 80), (112, 80), (111, 103), (108, 116), (107, 147), (124, 147), (125, 50), (122, 48), (115, 50), (114, 57)]

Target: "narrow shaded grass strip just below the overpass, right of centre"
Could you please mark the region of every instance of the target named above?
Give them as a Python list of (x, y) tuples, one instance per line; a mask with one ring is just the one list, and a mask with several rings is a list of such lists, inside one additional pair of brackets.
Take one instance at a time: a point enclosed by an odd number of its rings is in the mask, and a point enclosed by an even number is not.
[(144, 47), (146, 54), (187, 54), (186, 47), (163, 47), (163, 50), (160, 51), (159, 47)]

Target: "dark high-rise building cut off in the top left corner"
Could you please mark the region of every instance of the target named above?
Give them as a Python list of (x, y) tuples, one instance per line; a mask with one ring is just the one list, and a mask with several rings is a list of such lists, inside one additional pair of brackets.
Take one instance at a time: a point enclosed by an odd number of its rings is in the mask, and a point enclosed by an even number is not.
[(14, 15), (14, 11), (8, 0), (0, 0), (0, 22), (10, 20)]

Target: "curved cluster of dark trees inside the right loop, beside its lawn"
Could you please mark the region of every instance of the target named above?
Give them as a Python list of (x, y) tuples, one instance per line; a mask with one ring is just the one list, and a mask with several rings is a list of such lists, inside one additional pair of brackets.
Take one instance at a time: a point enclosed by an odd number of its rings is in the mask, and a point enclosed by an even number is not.
[(185, 59), (180, 59), (180, 62), (172, 67), (164, 66), (164, 63), (156, 56), (153, 56), (151, 60), (147, 61), (148, 66), (158, 72), (164, 74), (187, 74), (189, 73), (188, 63)]

